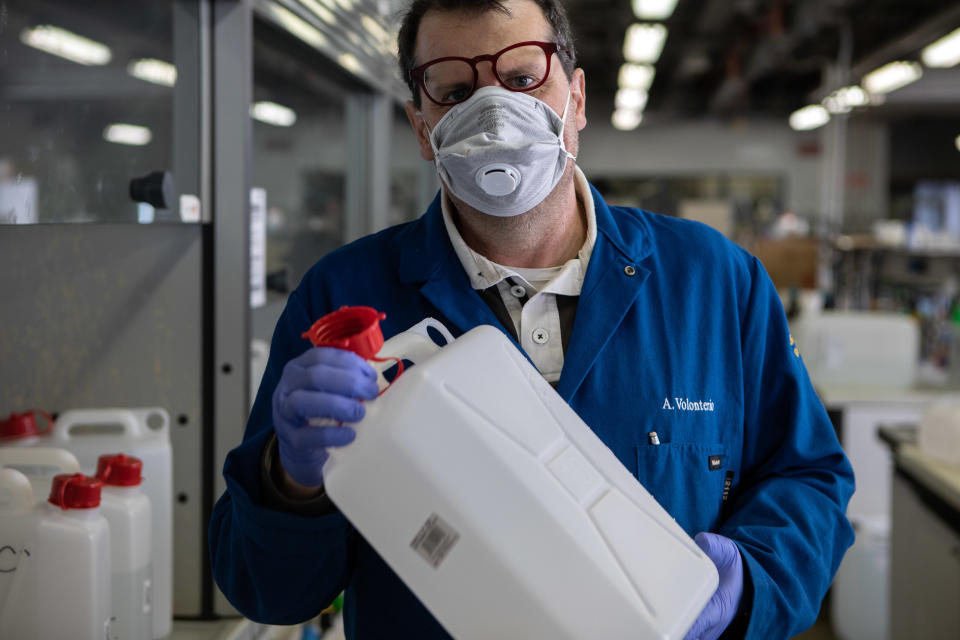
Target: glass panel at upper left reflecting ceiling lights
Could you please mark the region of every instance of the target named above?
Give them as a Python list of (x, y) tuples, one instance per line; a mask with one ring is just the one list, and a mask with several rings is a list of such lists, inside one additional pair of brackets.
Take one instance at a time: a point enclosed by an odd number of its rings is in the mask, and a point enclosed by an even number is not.
[[(0, 0), (0, 223), (180, 219), (173, 13), (172, 1)], [(131, 181), (153, 172), (134, 185), (152, 204), (134, 201)]]

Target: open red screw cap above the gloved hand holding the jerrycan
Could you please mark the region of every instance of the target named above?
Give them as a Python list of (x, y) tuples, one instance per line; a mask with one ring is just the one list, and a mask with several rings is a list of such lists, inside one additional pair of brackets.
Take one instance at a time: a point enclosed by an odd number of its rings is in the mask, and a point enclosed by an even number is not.
[[(387, 317), (373, 307), (340, 307), (313, 323), (301, 335), (315, 347), (334, 347), (353, 351), (364, 360), (397, 363), (396, 380), (403, 373), (403, 361), (399, 358), (377, 358), (383, 347), (383, 332), (380, 321)], [(384, 389), (385, 391), (385, 389)], [(383, 393), (383, 391), (381, 391)]]

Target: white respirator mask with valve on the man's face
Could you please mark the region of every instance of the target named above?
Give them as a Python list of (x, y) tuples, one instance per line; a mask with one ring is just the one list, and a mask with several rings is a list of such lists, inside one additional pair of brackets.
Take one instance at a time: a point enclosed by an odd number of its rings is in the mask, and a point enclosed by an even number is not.
[[(430, 133), (437, 172), (450, 192), (483, 213), (509, 217), (544, 201), (574, 158), (563, 143), (570, 94), (558, 116), (545, 102), (481, 87)], [(421, 116), (422, 117), (422, 116)]]

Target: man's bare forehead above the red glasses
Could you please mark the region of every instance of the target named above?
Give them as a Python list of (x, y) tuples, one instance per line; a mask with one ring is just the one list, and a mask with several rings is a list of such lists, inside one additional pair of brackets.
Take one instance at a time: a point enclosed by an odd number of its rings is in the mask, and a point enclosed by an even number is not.
[(504, 5), (506, 12), (428, 11), (417, 30), (417, 62), (445, 56), (472, 58), (517, 42), (553, 40), (550, 23), (536, 3), (515, 0)]

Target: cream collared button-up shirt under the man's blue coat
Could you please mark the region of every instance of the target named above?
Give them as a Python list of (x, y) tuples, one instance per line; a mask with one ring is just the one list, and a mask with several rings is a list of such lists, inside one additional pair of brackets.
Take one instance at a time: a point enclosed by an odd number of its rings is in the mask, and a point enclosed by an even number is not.
[[(576, 258), (545, 269), (507, 267), (497, 264), (467, 246), (447, 206), (446, 194), (440, 199), (443, 223), (454, 251), (470, 278), (470, 286), (484, 290), (494, 285), (500, 292), (510, 319), (519, 336), (520, 346), (548, 382), (560, 379), (563, 369), (563, 341), (557, 296), (579, 296), (597, 240), (597, 216), (586, 176), (575, 167), (577, 198), (587, 216), (587, 237)], [(441, 188), (443, 188), (441, 183)]]

